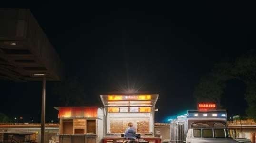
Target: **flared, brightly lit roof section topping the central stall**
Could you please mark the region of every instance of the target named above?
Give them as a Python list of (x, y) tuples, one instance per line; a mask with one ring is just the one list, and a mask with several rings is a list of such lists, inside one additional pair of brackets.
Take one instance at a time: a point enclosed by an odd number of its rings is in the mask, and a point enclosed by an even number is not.
[(100, 98), (105, 107), (155, 106), (158, 94), (108, 94)]

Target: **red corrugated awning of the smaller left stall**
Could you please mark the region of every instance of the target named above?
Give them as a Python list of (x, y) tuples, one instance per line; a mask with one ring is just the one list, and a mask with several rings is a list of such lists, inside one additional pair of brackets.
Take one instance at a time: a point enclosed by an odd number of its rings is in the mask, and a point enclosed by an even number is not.
[(58, 118), (97, 118), (99, 107), (56, 107)]

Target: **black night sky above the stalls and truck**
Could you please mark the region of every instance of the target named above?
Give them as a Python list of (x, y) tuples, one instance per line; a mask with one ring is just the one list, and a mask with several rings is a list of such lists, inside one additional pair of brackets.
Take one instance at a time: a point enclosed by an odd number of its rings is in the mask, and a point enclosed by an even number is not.
[[(100, 104), (100, 93), (129, 83), (139, 91), (160, 95), (156, 121), (195, 109), (193, 92), (199, 78), (223, 58), (235, 58), (256, 47), (256, 13), (242, 4), (62, 7), (48, 3), (18, 7), (31, 10), (59, 53), (67, 76), (79, 77), (90, 103)], [(47, 122), (56, 120), (53, 106), (59, 106), (58, 97), (52, 94), (53, 84), (47, 82)], [(0, 86), (0, 112), (39, 122), (40, 82), (0, 81)], [(244, 91), (239, 81), (228, 81), (225, 108), (243, 114), (246, 102), (239, 101)], [(233, 102), (242, 108), (234, 107)]]

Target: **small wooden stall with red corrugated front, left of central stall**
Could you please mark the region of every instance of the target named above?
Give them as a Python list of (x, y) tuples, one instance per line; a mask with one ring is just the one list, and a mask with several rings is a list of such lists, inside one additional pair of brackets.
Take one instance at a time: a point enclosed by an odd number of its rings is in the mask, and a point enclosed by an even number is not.
[(104, 113), (101, 107), (55, 107), (59, 110), (59, 143), (100, 143)]

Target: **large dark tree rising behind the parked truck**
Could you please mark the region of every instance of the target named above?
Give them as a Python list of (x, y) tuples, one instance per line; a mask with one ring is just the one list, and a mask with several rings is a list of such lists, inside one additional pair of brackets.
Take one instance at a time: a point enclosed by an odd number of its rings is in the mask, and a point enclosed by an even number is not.
[(212, 72), (202, 76), (194, 91), (198, 102), (213, 101), (220, 105), (220, 98), (226, 80), (239, 79), (246, 84), (245, 99), (248, 103), (246, 113), (256, 119), (256, 54), (250, 51), (235, 60), (217, 63)]

